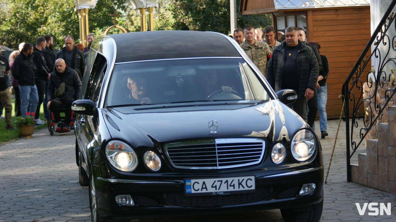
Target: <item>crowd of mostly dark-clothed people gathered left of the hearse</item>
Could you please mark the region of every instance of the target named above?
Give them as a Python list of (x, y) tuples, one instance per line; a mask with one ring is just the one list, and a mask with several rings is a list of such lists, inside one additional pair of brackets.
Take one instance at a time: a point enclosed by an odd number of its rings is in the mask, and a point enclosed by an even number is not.
[[(38, 37), (35, 46), (28, 42), (19, 44), (19, 50), (13, 51), (8, 60), (0, 56), (0, 118), (4, 119), (6, 129), (15, 129), (11, 124), (13, 93), (15, 116), (25, 118), (34, 113), (34, 124), (42, 125), (52, 119), (48, 116), (51, 109), (53, 121), (57, 123), (55, 131), (70, 130), (71, 104), (80, 97), (85, 58), (93, 39), (89, 34), (88, 46), (78, 49), (73, 36), (66, 36), (63, 49), (55, 56), (53, 38), (48, 34)], [(40, 120), (42, 105), (44, 120)], [(59, 113), (62, 105), (65, 105), (63, 122)]]

